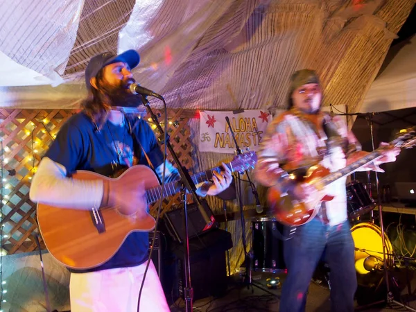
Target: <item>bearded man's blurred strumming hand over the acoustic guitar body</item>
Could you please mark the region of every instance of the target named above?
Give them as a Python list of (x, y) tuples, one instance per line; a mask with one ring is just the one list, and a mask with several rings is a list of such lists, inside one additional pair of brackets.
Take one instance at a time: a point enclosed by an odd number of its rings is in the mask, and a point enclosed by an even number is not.
[(134, 175), (126, 175), (122, 180), (103, 180), (104, 193), (101, 207), (116, 207), (124, 216), (144, 218), (147, 203), (144, 183), (138, 182)]

